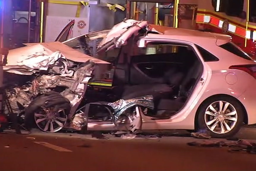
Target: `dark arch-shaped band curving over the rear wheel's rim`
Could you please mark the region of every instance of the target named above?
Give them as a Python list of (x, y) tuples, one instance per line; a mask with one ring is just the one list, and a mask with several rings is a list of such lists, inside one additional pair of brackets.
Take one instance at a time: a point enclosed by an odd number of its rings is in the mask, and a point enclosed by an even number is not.
[(202, 106), (208, 99), (213, 98), (213, 97), (220, 97), (220, 96), (221, 96), (221, 97), (226, 96), (226, 97), (233, 98), (233, 99), (236, 100), (238, 103), (240, 103), (240, 105), (241, 105), (241, 107), (242, 107), (242, 109), (243, 109), (243, 111), (244, 111), (244, 120), (243, 120), (243, 122), (244, 122), (245, 124), (248, 123), (247, 111), (246, 111), (244, 105), (241, 103), (241, 101), (239, 101), (237, 98), (235, 98), (234, 96), (231, 96), (231, 95), (227, 95), (227, 94), (216, 94), (216, 95), (211, 95), (211, 96), (209, 96), (208, 98), (206, 98), (206, 99), (198, 106), (197, 111), (196, 111), (196, 114), (195, 114), (195, 120), (194, 120), (195, 129), (198, 128), (198, 114), (199, 114), (199, 109), (201, 108), (201, 106)]

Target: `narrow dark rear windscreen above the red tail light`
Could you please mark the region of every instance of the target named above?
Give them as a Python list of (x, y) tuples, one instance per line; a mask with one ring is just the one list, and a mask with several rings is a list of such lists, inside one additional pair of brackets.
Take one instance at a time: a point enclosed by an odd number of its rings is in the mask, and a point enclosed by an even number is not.
[(225, 43), (223, 45), (220, 45), (219, 47), (231, 52), (232, 54), (235, 54), (239, 57), (242, 57), (244, 59), (247, 60), (252, 60), (252, 58), (246, 54), (241, 48), (239, 48), (238, 46), (234, 45), (233, 43)]

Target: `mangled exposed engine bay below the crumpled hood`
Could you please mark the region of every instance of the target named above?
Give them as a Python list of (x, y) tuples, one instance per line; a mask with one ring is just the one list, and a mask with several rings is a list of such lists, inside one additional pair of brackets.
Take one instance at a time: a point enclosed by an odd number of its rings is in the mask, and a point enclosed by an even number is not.
[(14, 113), (26, 120), (38, 107), (56, 104), (59, 106), (54, 109), (55, 112), (59, 109), (65, 109), (66, 114), (74, 112), (73, 108), (77, 108), (83, 99), (94, 66), (95, 63), (90, 60), (78, 63), (62, 57), (47, 70), (31, 75), (5, 72), (4, 82), (8, 83), (5, 84), (5, 114)]

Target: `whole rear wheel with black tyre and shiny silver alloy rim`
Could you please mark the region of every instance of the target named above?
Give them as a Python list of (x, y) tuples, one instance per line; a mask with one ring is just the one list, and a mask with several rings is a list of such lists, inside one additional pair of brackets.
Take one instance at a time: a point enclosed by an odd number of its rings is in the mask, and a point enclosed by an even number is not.
[(204, 101), (197, 114), (197, 131), (207, 131), (214, 138), (227, 138), (240, 130), (245, 113), (235, 98), (216, 96)]

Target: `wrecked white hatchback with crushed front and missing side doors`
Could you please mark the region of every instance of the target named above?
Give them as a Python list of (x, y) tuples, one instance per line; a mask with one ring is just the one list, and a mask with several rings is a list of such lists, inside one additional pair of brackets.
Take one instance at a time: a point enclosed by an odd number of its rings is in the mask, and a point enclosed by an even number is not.
[(208, 129), (227, 137), (242, 123), (256, 123), (256, 99), (244, 100), (256, 93), (225, 81), (227, 71), (239, 70), (230, 65), (254, 62), (225, 49), (237, 48), (227, 35), (126, 20), (111, 30), (26, 45), (10, 51), (4, 82), (5, 113), (27, 128)]

